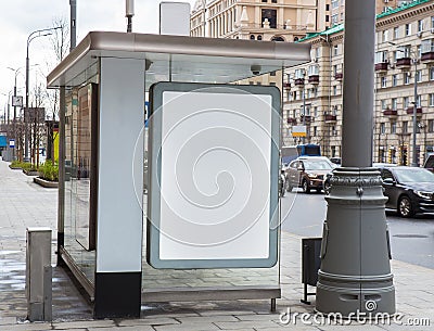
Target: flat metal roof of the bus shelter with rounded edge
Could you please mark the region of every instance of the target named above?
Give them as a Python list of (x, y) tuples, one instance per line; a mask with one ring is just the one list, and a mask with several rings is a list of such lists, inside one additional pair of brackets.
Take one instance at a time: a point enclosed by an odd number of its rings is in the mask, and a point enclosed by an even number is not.
[(49, 74), (49, 88), (75, 87), (98, 73), (101, 56), (141, 59), (146, 89), (156, 81), (231, 82), (310, 61), (292, 42), (91, 31)]

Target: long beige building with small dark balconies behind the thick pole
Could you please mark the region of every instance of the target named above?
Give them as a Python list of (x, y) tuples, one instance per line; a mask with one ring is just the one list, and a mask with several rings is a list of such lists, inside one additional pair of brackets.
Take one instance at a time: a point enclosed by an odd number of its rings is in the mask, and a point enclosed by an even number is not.
[[(307, 141), (327, 156), (341, 154), (344, 28), (312, 34), (312, 60), (285, 72), (284, 142), (292, 126), (305, 123)], [(375, 162), (410, 164), (412, 114), (417, 94), (418, 163), (434, 151), (434, 0), (417, 0), (376, 16)], [(414, 84), (416, 79), (416, 84)], [(417, 90), (414, 91), (414, 86)]]

